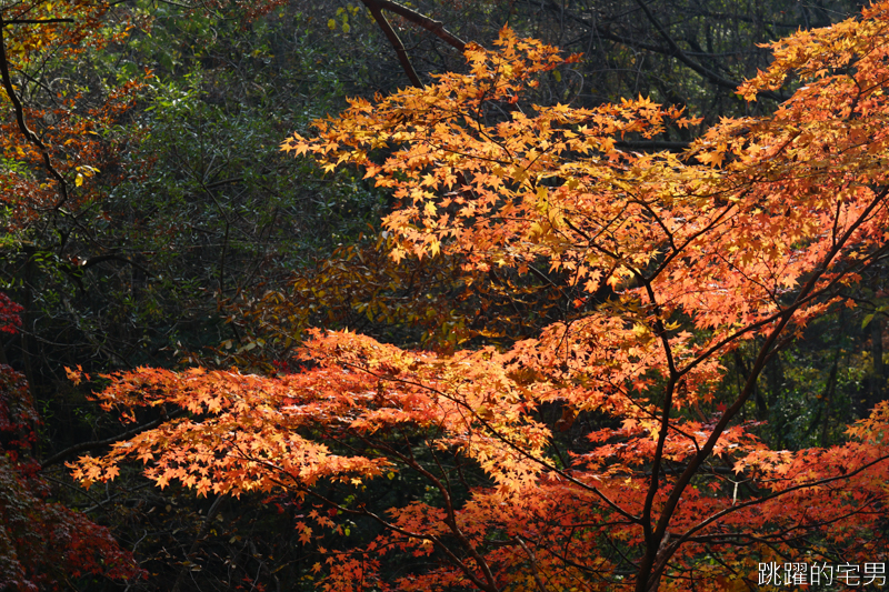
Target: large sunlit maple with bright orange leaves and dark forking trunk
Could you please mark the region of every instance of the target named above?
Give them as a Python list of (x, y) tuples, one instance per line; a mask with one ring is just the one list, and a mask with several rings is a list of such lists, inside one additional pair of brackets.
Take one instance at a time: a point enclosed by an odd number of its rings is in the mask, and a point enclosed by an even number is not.
[[(739, 414), (766, 363), (887, 251), (889, 3), (772, 44), (739, 88), (800, 86), (775, 114), (726, 119), (681, 154), (623, 151), (697, 120), (639, 98), (596, 109), (527, 104), (572, 58), (505, 29), (448, 73), (356, 99), (283, 148), (356, 164), (399, 205), (394, 261), (440, 252), (467, 269), (545, 265), (577, 290), (576, 318), (500, 350), (406, 351), (314, 330), (276, 377), (140, 369), (99, 400), (171, 420), (81, 458), (89, 485), (127, 459), (161, 488), (284, 490), (318, 538), (330, 590), (746, 589), (759, 561), (886, 560), (889, 402), (841, 445), (769, 450)], [(737, 391), (723, 360), (745, 347)], [(72, 372), (74, 380), (82, 380)], [(583, 414), (609, 427), (560, 450)], [(384, 513), (374, 480), (428, 495)], [(379, 535), (342, 549), (349, 520)], [(426, 558), (390, 578), (387, 558)]]

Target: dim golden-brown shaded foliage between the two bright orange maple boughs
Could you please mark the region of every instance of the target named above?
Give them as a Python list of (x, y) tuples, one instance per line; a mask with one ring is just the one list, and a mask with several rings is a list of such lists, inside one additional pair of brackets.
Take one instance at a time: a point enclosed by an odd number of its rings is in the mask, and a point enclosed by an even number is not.
[[(219, 368), (288, 371), (290, 355), (310, 327), (350, 328), (381, 341), (416, 342), (438, 351), (467, 342), (513, 342), (547, 315), (559, 318), (570, 290), (522, 281), (493, 270), (465, 270), (441, 254), (396, 262), (391, 233), (359, 237), (313, 267), (293, 272), (289, 285), (227, 303), (240, 341), (213, 350)], [(542, 275), (542, 273), (541, 273)], [(543, 275), (546, 279), (546, 277)], [(190, 361), (199, 361), (190, 354)], [(297, 364), (298, 365), (298, 364)]]

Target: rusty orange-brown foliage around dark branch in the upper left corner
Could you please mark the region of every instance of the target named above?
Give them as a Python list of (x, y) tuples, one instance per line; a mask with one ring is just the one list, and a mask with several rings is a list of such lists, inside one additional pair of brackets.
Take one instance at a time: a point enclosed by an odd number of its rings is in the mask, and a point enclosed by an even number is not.
[(90, 179), (100, 172), (98, 165), (113, 161), (99, 131), (128, 109), (134, 81), (104, 97), (88, 98), (83, 89), (57, 84), (42, 104), (22, 100), (22, 94), (33, 93), (29, 84), (40, 88), (39, 79), (56, 60), (72, 59), (126, 36), (124, 24), (104, 22), (108, 8), (93, 1), (33, 1), (0, 12), (0, 100), (10, 116), (2, 121), (0, 143), (8, 228), (20, 229), (46, 212), (77, 211), (94, 200)]

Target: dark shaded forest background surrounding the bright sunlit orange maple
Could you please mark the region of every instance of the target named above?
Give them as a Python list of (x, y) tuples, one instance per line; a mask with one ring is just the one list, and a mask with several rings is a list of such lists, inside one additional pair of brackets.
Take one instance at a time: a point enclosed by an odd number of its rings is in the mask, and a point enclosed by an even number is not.
[[(296, 375), (309, 368), (300, 348), (311, 328), (349, 329), (441, 359), (483, 348), (502, 352), (552, 323), (582, 319), (620, 291), (617, 284), (585, 289), (557, 267), (467, 268), (459, 250), (392, 258), (393, 249), (404, 249), (404, 237), (380, 221), (401, 208), (400, 199), (360, 168), (322, 168), (282, 152), (293, 132), (313, 137), (312, 121), (354, 108), (349, 98), (381, 100), (406, 87), (433, 86), (438, 74), (467, 73), (471, 63), (463, 51), (493, 49), (508, 26), (517, 38), (560, 48), (566, 59), (539, 69), (522, 101), (595, 110), (649, 98), (685, 110), (692, 118), (685, 123), (616, 134), (615, 147), (627, 153), (678, 155), (728, 118), (771, 117), (800, 88), (790, 77), (752, 97), (739, 93), (745, 80), (771, 63), (772, 49), (763, 43), (831, 27), (861, 9), (856, 2), (789, 0), (4, 0), (0, 588), (342, 588), (330, 553), (346, 556), (381, 535), (388, 526), (372, 515), (444, 503), (422, 471), (462, 474), (465, 466), (471, 484), (448, 489), (458, 505), (473, 488), (496, 481), (483, 466), (461, 464), (457, 452), (442, 466), (439, 449), (426, 440), (429, 427), (414, 422), (410, 429), (399, 424), (407, 435), (389, 437), (410, 441), (417, 455), (410, 462), (421, 470), (387, 470), (363, 483), (323, 475), (312, 483), (320, 495), (314, 501), (287, 486), (247, 488), (239, 496), (196, 496), (186, 486), (193, 481), (159, 489), (158, 475), (147, 478), (138, 461), (103, 475), (117, 479), (84, 489), (67, 463), (201, 415), (169, 401), (136, 414), (109, 411), (93, 393), (128, 374), (101, 374), (237, 367), (244, 375)], [(580, 56), (568, 59), (572, 53)], [(843, 287), (841, 297), (853, 305), (825, 309), (801, 323), (797, 339), (769, 345), (763, 363), (761, 335), (722, 352), (712, 395), (696, 403), (696, 417), (710, 425), (709, 418), (731, 407), (752, 377), (733, 425), (745, 425), (775, 451), (848, 443), (847, 427), (886, 400), (882, 268), (878, 253)], [(138, 389), (163, 390), (157, 380)], [(542, 380), (516, 379), (522, 388), (536, 382)], [(472, 412), (482, 424), (490, 415), (478, 407)], [(627, 423), (619, 414), (568, 400), (541, 402), (528, 414), (551, 431), (550, 448), (540, 454), (560, 459), (560, 469), (573, 462), (566, 460), (572, 454), (597, 448), (590, 434), (617, 434), (609, 445), (635, 438), (620, 432)], [(132, 422), (121, 423), (128, 418)], [(324, 437), (323, 428), (299, 430)], [(386, 440), (362, 442), (364, 453), (376, 453)], [(716, 461), (708, 468), (713, 491), (733, 496), (732, 503), (756, 498), (745, 490), (749, 475), (732, 465), (730, 452), (720, 451)], [(312, 505), (318, 500), (326, 500), (323, 510)], [(867, 503), (871, 530), (861, 532), (879, 540), (889, 528), (885, 498)], [(310, 512), (316, 520), (329, 512), (336, 528), (322, 535), (316, 525), (312, 532), (306, 525)], [(507, 536), (507, 530), (491, 528), (485, 544), (522, 549), (527, 564), (517, 572), (521, 580), (491, 590), (619, 589), (633, 582), (639, 562), (619, 545), (607, 566), (572, 573), (570, 586), (542, 573), (527, 546), (531, 541)], [(850, 531), (850, 549), (863, 544), (856, 539), (861, 532)], [(655, 551), (662, 541), (655, 541)], [(718, 552), (702, 552), (695, 561), (707, 568), (689, 571), (703, 574), (702, 590), (747, 590), (757, 562), (767, 558), (816, 552), (839, 560), (861, 552), (827, 541), (808, 531), (782, 535), (769, 543), (775, 555), (748, 541), (735, 564), (720, 565)], [(443, 551), (403, 546), (400, 553), (376, 568), (380, 581), (408, 588), (408, 575), (422, 582), (422, 574), (449, 561)], [(625, 553), (626, 561), (616, 559)], [(479, 559), (461, 561), (476, 562), (466, 573), (483, 571)], [(442, 589), (473, 585), (471, 578), (438, 576)], [(382, 586), (367, 588), (374, 585)]]

